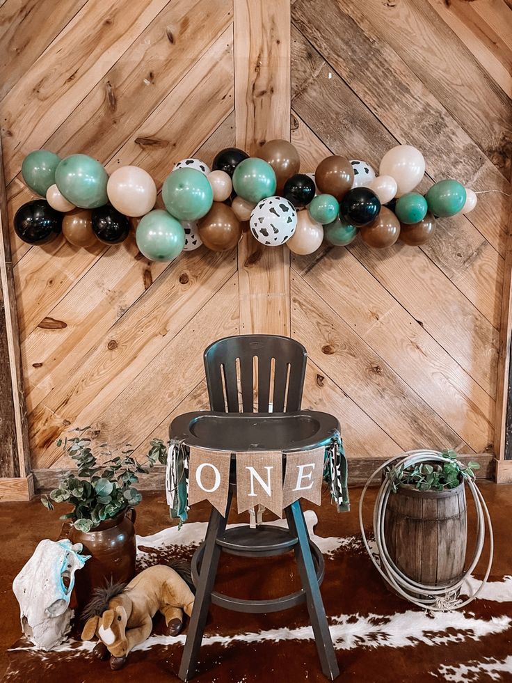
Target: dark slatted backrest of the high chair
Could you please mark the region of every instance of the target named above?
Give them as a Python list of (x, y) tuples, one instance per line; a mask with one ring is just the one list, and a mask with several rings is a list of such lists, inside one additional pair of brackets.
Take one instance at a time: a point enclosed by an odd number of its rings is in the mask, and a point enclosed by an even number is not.
[(288, 337), (219, 339), (205, 351), (210, 407), (220, 412), (253, 412), (255, 405), (259, 412), (300, 410), (306, 361), (303, 345)]

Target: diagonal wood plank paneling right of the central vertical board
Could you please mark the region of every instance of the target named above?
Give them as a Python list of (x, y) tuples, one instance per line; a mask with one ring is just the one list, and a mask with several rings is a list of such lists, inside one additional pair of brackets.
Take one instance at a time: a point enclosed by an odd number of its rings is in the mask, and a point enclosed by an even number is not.
[[(385, 150), (409, 143), (426, 157), (422, 190), (455, 177), (491, 191), (420, 249), (356, 240), (292, 258), (291, 333), (318, 368), (306, 395), (333, 400), (320, 375), (367, 416), (365, 433), (345, 425), (349, 452), (364, 442), (385, 455), (376, 425), (398, 450), (493, 448), (512, 104), (508, 52), (490, 49), (486, 31), (512, 10), (477, 4), (490, 21), (481, 31), (458, 0), (292, 4), (291, 139), (303, 171), (330, 153), (378, 168)], [(464, 39), (452, 30), (461, 23)]]

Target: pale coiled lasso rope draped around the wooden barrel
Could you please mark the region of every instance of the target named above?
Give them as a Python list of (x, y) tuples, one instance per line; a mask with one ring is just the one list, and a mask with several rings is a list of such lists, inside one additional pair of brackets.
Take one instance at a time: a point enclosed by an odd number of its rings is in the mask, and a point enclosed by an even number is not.
[[(367, 536), (365, 534), (365, 525), (363, 520), (363, 503), (365, 501), (365, 495), (369, 485), (376, 478), (378, 473), (383, 471), (387, 466), (393, 463), (393, 469), (397, 467), (409, 467), (415, 465), (418, 462), (453, 462), (445, 455), (442, 455), (437, 450), (410, 450), (408, 453), (404, 453), (401, 460), (397, 460), (396, 457), (390, 458), (379, 466), (376, 471), (371, 475), (367, 481), (364, 489), (362, 489), (361, 498), (359, 501), (359, 524), (361, 527), (362, 540), (365, 544), (365, 548), (374, 563), (379, 574), (383, 579), (399, 594), (404, 597), (409, 602), (422, 607), (423, 609), (428, 609), (431, 611), (447, 611), (450, 609), (460, 609), (470, 604), (474, 600), (479, 592), (485, 586), (487, 579), (490, 574), (490, 567), (493, 564), (493, 554), (494, 554), (494, 537), (493, 537), (493, 526), (490, 521), (489, 511), (484, 501), (483, 496), (474, 480), (470, 476), (464, 476), (464, 480), (467, 483), (468, 488), (473, 497), (475, 509), (477, 511), (477, 541), (475, 543), (474, 555), (471, 560), (470, 566), (464, 572), (464, 574), (455, 581), (451, 583), (440, 583), (438, 586), (427, 586), (424, 583), (417, 583), (410, 579), (406, 574), (403, 574), (399, 567), (395, 565), (390, 554), (387, 551), (387, 546), (385, 542), (384, 535), (384, 519), (387, 508), (387, 500), (392, 492), (392, 482), (393, 475), (392, 472), (388, 473), (383, 481), (374, 505), (374, 535), (376, 549), (371, 549)], [(457, 461), (458, 462), (458, 461)], [(462, 465), (461, 462), (458, 462)], [(483, 580), (478, 586), (477, 590), (470, 592), (467, 599), (462, 600), (459, 598), (461, 588), (463, 583), (469, 579), (474, 568), (479, 563), (483, 551), (483, 545), (486, 536), (486, 526), (488, 529), (488, 539), (489, 539), (489, 560), (486, 569), (486, 573), (483, 576)]]

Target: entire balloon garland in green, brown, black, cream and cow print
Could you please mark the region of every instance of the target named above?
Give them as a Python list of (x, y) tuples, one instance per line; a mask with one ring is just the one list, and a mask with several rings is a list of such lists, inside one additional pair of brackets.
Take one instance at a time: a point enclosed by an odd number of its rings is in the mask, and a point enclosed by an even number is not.
[(209, 168), (182, 159), (163, 182), (166, 210), (154, 209), (157, 186), (137, 166), (109, 175), (96, 159), (65, 159), (35, 150), (22, 164), (26, 185), (40, 199), (20, 207), (15, 233), (29, 244), (46, 244), (63, 233), (77, 247), (120, 244), (139, 218), (136, 244), (146, 258), (172, 261), (201, 244), (227, 251), (242, 236), (241, 222), (266, 246), (287, 244), (313, 253), (324, 238), (346, 246), (358, 233), (376, 249), (397, 240), (424, 244), (435, 219), (472, 211), (477, 195), (457, 180), (440, 180), (425, 195), (415, 192), (425, 173), (419, 150), (398, 145), (385, 153), (376, 175), (360, 159), (331, 155), (313, 173), (299, 173), (298, 151), (285, 140), (266, 142), (255, 157), (221, 150)]

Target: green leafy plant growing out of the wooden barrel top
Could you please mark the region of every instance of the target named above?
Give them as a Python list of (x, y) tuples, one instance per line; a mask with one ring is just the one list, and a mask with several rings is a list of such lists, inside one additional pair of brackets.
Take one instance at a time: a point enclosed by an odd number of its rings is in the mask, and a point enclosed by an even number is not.
[(467, 465), (457, 460), (454, 450), (443, 450), (446, 462), (417, 462), (408, 467), (390, 466), (386, 470), (388, 478), (392, 479), (392, 491), (397, 493), (404, 485), (414, 486), (419, 491), (445, 491), (454, 489), (465, 478), (474, 479), (474, 471), (480, 468), (478, 462), (468, 462)]

